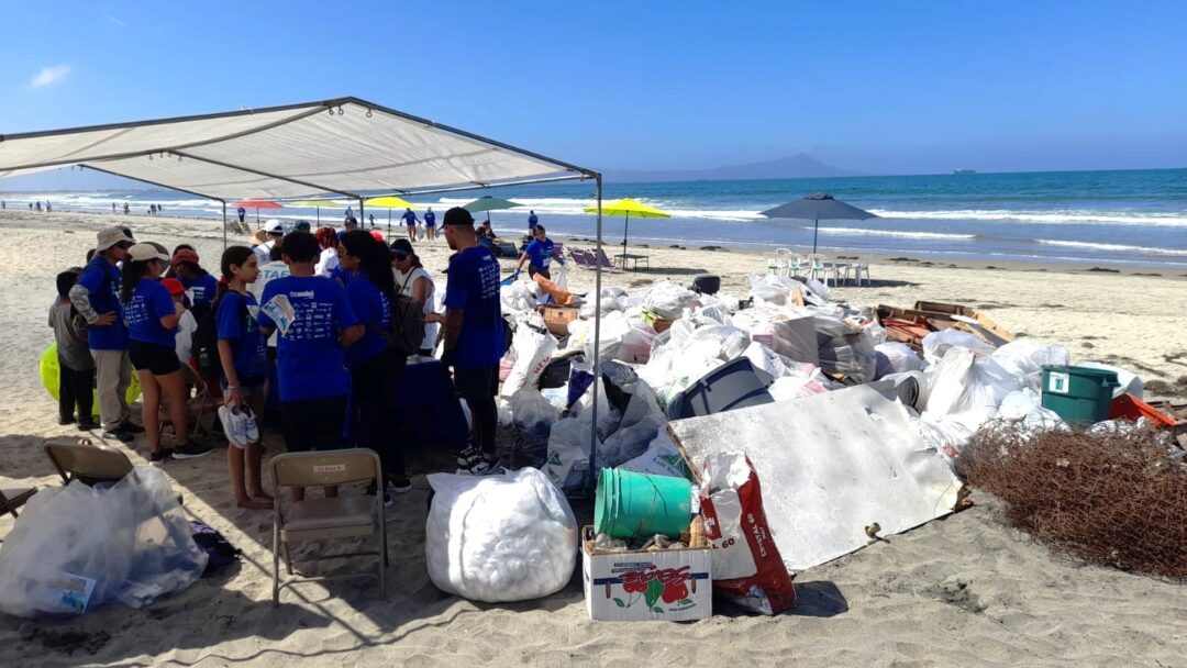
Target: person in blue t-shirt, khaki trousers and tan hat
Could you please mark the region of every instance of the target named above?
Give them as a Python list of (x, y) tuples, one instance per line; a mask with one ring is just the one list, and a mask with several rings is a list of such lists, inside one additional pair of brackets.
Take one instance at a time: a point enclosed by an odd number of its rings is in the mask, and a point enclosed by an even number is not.
[(87, 320), (87, 343), (95, 360), (99, 416), (103, 438), (129, 443), (144, 427), (132, 421), (127, 390), (132, 383), (128, 330), (120, 308), (120, 269), (116, 267), (135, 241), (123, 228), (100, 230), (95, 255), (78, 282), (70, 288), (70, 303)]

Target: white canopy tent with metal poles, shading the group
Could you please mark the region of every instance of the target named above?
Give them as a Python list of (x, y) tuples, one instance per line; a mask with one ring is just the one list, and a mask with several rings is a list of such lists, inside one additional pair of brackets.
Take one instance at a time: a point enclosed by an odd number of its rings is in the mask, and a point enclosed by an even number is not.
[[(0, 178), (81, 165), (222, 202), (427, 195), (602, 174), (357, 97), (58, 131), (0, 134)], [(601, 303), (602, 269), (596, 276)], [(598, 308), (601, 312), (601, 308)], [(595, 342), (601, 327), (595, 320)], [(594, 364), (597, 368), (598, 345)], [(595, 393), (594, 424), (597, 424)], [(591, 435), (590, 464), (596, 452)]]

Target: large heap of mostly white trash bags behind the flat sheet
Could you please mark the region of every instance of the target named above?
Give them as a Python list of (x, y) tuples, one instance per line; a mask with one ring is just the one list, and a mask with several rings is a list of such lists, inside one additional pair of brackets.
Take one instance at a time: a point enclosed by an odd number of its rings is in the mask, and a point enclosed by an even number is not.
[[(767, 392), (774, 401), (863, 383), (895, 393), (923, 441), (950, 465), (989, 420), (1062, 424), (1042, 408), (1039, 390), (1043, 365), (1071, 362), (1066, 348), (1026, 338), (995, 346), (950, 329), (926, 336), (916, 352), (888, 341), (874, 308), (831, 301), (829, 288), (813, 280), (750, 276), (745, 299), (698, 294), (667, 280), (637, 292), (604, 287), (601, 310), (582, 305), (582, 318), (560, 337), (533, 311), (540, 297), (532, 286), (502, 290), (504, 308), (514, 307), (515, 335), (500, 415), (547, 440), (541, 469), (565, 491), (586, 489), (605, 466), (672, 475), (665, 464), (677, 453), (665, 443), (668, 405), (743, 357), (773, 380)], [(599, 369), (592, 368), (595, 320)], [(1109, 369), (1118, 371), (1119, 393), (1141, 393), (1134, 374)]]

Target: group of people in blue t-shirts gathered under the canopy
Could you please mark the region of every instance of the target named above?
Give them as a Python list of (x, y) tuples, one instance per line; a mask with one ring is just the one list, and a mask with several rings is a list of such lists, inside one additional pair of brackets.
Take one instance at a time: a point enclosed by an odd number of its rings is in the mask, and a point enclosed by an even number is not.
[[(387, 489), (374, 491), (389, 500), (389, 491), (411, 489), (399, 434), (400, 420), (415, 416), (401, 414), (396, 396), (408, 354), (389, 336), (399, 304), (411, 299), (425, 322), (415, 352), (429, 356), (442, 346), (440, 360), (472, 414), (472, 443), (458, 453), (459, 467), (472, 475), (501, 471), (495, 457), (495, 395), (506, 346), (500, 267), (478, 242), (469, 211), (450, 209), (442, 227), (455, 250), (443, 313), (434, 310), (436, 282), (412, 241), (388, 246), (374, 230), (285, 230), (280, 221), (268, 221), (254, 247), (223, 252), (217, 279), (188, 244), (170, 254), (127, 228), (100, 231), (85, 266), (57, 276), (49, 324), (61, 368), (59, 421), (102, 428), (103, 438), (123, 443), (144, 434), (151, 460), (160, 464), (210, 452), (189, 438), (196, 384), (217, 383), (228, 409), (259, 418), (275, 392), (288, 451), (341, 447), (345, 421), (355, 420), (358, 445), (380, 453), (387, 478)], [(142, 425), (132, 420), (126, 400), (133, 369)], [(269, 386), (272, 376), (277, 387)], [(165, 419), (176, 434), (172, 447), (161, 438)], [(272, 504), (260, 481), (261, 431), (242, 447), (228, 447), (235, 500), (245, 508)]]

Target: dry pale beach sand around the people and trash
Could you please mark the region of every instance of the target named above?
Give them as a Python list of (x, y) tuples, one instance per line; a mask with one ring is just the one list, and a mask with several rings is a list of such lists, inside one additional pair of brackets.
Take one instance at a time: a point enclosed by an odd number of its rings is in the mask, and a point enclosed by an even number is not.
[[(39, 445), (77, 432), (57, 426), (55, 405), (38, 380), (37, 360), (51, 337), (45, 312), (53, 275), (81, 265), (94, 233), (115, 220), (0, 215), (5, 484), (57, 484)], [(140, 238), (170, 247), (188, 241), (208, 267), (217, 263), (217, 223), (123, 221)], [(418, 250), (439, 273), (444, 241), (431, 246), (421, 242)], [(742, 293), (745, 274), (764, 267), (761, 256), (741, 252), (643, 252), (655, 267), (649, 274), (615, 274), (608, 281), (641, 285), (662, 275), (687, 281), (707, 271)], [(1181, 278), (1035, 269), (878, 262), (874, 287), (842, 288), (839, 295), (859, 304), (973, 305), (1014, 332), (1067, 344), (1077, 361), (1111, 361), (1148, 382), (1167, 383), (1162, 394), (1187, 392), (1176, 384), (1187, 376)], [(582, 272), (570, 278), (577, 287), (591, 281)], [(142, 439), (135, 445), (142, 448)], [(275, 439), (268, 446), (278, 451)], [(132, 456), (144, 462), (142, 451)], [(427, 485), (419, 473), (442, 463), (440, 457), (414, 463), (417, 489), (396, 497), (389, 513), (386, 600), (376, 599), (367, 580), (341, 580), (287, 590), (277, 610), (269, 603), (271, 514), (234, 507), (221, 452), (171, 463), (165, 471), (185, 496), (186, 513), (241, 547), (242, 565), (142, 610), (113, 604), (76, 619), (0, 616), (0, 666), (1187, 666), (1182, 585), (1055, 559), (1002, 526), (994, 500), (984, 496), (976, 496), (970, 510), (801, 573), (799, 609), (783, 617), (750, 617), (721, 604), (717, 616), (691, 624), (594, 623), (585, 615), (579, 571), (564, 591), (542, 600), (472, 604), (440, 593), (425, 571)], [(0, 519), (0, 536), (11, 527), (9, 516)]]

